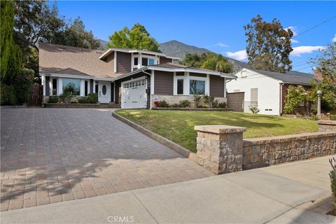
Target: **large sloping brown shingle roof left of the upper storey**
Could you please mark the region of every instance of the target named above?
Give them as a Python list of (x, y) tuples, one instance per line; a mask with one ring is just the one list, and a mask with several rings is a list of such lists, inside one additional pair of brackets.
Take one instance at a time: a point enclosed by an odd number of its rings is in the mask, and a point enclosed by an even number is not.
[(39, 73), (66, 72), (73, 76), (94, 76), (97, 78), (114, 78), (113, 63), (99, 59), (102, 50), (75, 48), (51, 43), (38, 44)]

